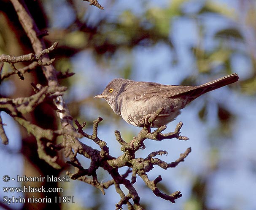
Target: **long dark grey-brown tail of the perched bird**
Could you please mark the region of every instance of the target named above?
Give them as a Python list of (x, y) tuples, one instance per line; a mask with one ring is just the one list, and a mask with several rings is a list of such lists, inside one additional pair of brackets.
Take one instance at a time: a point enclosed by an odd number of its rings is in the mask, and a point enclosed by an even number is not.
[(189, 94), (189, 101), (196, 99), (197, 97), (210, 92), (212, 90), (218, 89), (220, 87), (224, 87), (228, 84), (232, 84), (238, 81), (238, 74), (230, 74), (228, 76), (221, 77), (220, 79), (216, 79), (205, 84), (195, 86), (194, 89), (191, 90)]

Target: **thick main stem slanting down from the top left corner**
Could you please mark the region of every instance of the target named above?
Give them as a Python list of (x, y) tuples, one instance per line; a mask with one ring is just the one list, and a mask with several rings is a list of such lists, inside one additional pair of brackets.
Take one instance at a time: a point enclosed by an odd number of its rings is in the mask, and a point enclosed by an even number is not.
[[(32, 18), (24, 0), (11, 0), (11, 3), (13, 4), (13, 7), (18, 15), (19, 21), (24, 31), (27, 33), (27, 36), (30, 39), (30, 42), (35, 51), (35, 54), (39, 54), (40, 52), (43, 52), (46, 49), (46, 45), (41, 36), (42, 32), (40, 32), (40, 30), (38, 29), (38, 26), (36, 25), (34, 19)], [(49, 55), (48, 54), (42, 55), (40, 57), (40, 60), (42, 62), (48, 63), (50, 61)], [(45, 75), (48, 81), (48, 86), (59, 87), (59, 82), (57, 78), (58, 74), (54, 66), (52, 64), (49, 66), (42, 66), (42, 70), (43, 70), (43, 74)], [(70, 115), (70, 111), (68, 110), (66, 102), (64, 101), (62, 96), (56, 97), (54, 99), (54, 104), (58, 109), (57, 115), (61, 121), (62, 129), (74, 131), (75, 128), (73, 127), (73, 118)], [(66, 157), (70, 156), (70, 158), (72, 158), (74, 155), (71, 147), (74, 142), (78, 141), (78, 139), (76, 139), (74, 136), (69, 136), (69, 138), (67, 138), (67, 135), (64, 135), (63, 139), (64, 139), (63, 145), (66, 145), (66, 144), (68, 145), (64, 149), (65, 156)]]

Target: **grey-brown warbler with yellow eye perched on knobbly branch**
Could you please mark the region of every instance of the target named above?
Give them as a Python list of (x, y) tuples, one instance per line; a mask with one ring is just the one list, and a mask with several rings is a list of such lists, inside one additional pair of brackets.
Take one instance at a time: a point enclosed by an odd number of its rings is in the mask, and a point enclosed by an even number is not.
[(143, 117), (162, 108), (162, 112), (151, 123), (151, 127), (159, 128), (175, 120), (181, 109), (197, 97), (232, 84), (238, 79), (238, 74), (230, 74), (199, 86), (184, 86), (116, 78), (94, 98), (104, 98), (114, 113), (137, 127), (141, 126), (140, 120)]

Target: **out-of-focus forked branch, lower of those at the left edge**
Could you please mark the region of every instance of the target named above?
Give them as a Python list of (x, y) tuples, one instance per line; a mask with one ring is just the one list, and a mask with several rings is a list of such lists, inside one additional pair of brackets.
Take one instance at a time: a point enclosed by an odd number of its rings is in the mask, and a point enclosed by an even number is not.
[[(56, 163), (57, 156), (51, 157), (45, 151), (48, 147), (47, 145), (49, 145), (48, 141), (52, 141), (54, 139), (54, 136), (69, 135), (75, 138), (81, 138), (82, 135), (76, 133), (75, 131), (67, 129), (60, 129), (57, 131), (51, 129), (42, 129), (24, 118), (24, 114), (32, 112), (32, 110), (34, 110), (39, 104), (43, 102), (47, 101), (51, 103), (51, 105), (54, 105), (54, 98), (62, 95), (67, 89), (66, 87), (37, 87), (38, 92), (30, 97), (13, 99), (0, 98), (0, 111), (8, 113), (11, 117), (13, 117), (16, 122), (18, 122), (21, 126), (27, 129), (28, 133), (35, 136), (38, 145), (38, 155), (41, 159), (45, 160), (54, 168), (60, 168), (60, 166)], [(2, 119), (0, 119), (0, 136), (3, 143), (7, 144), (8, 139), (3, 130)]]

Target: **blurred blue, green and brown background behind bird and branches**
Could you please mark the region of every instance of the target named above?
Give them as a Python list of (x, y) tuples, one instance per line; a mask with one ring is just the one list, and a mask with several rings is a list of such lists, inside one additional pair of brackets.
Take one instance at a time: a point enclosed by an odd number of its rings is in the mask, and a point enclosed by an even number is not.
[[(180, 189), (183, 197), (171, 205), (154, 197), (139, 181), (136, 188), (147, 210), (159, 205), (162, 209), (175, 210), (252, 210), (256, 207), (253, 199), (256, 194), (255, 0), (102, 0), (103, 11), (81, 0), (25, 2), (39, 28), (49, 31), (44, 37), (47, 45), (59, 42), (58, 49), (51, 55), (56, 58), (55, 68), (75, 72), (73, 77), (60, 81), (69, 87), (64, 97), (73, 118), (86, 121), (90, 132), (92, 121), (98, 115), (102, 116), (100, 135), (108, 142), (112, 155), (121, 154), (114, 140), (115, 129), (120, 130), (127, 141), (139, 131), (124, 123), (104, 100), (93, 99), (113, 78), (196, 85), (238, 73), (239, 84), (203, 96), (178, 118), (185, 123), (182, 129), (185, 133), (181, 134), (189, 136), (189, 143), (154, 142), (152, 147), (146, 145), (146, 152), (137, 154), (145, 156), (157, 145), (160, 149), (168, 148), (170, 154), (166, 160), (171, 162), (185, 151), (183, 148), (192, 145), (194, 156), (191, 160), (171, 172), (159, 170), (152, 174), (152, 177), (159, 174), (165, 177), (159, 184), (164, 192)], [(22, 55), (30, 52), (30, 42), (11, 3), (1, 0), (0, 53)], [(5, 65), (4, 71), (11, 71), (10, 67)], [(25, 74), (25, 81), (19, 81), (16, 75), (3, 81), (0, 94), (8, 97), (31, 95), (30, 82), (46, 84), (40, 68)], [(53, 129), (58, 126), (56, 116), (48, 110), (46, 105), (29, 117), (40, 126)], [(11, 121), (8, 116), (3, 117)], [(168, 129), (174, 128), (175, 122)], [(15, 127), (15, 124), (8, 124), (9, 129), (13, 129), (9, 125)], [(58, 175), (67, 170), (51, 171), (40, 160), (31, 161), (37, 155), (36, 150), (31, 151), (35, 148), (35, 145), (31, 146), (33, 139), (28, 140), (30, 137), (22, 129), (19, 132), (20, 138), (14, 134), (9, 138), (10, 142), (12, 138), (20, 139), (20, 146), (10, 143), (9, 151), (2, 155), (11, 160), (13, 153), (22, 154), (15, 157), (22, 161), (23, 173), (33, 167), (39, 168), (37, 172), (34, 169), (29, 172), (33, 176), (44, 170)], [(1, 150), (6, 148), (1, 146)], [(24, 156), (30, 161), (27, 162)], [(89, 163), (87, 160), (81, 162)], [(46, 168), (40, 169), (42, 167)], [(99, 170), (99, 174), (102, 180), (108, 179), (104, 171)], [(65, 187), (65, 194), (74, 194), (76, 202), (55, 208), (113, 209), (119, 200), (113, 189), (107, 190), (103, 197), (97, 189), (79, 181), (72, 181)], [(14, 208), (31, 207), (20, 205)]]

